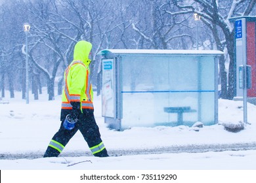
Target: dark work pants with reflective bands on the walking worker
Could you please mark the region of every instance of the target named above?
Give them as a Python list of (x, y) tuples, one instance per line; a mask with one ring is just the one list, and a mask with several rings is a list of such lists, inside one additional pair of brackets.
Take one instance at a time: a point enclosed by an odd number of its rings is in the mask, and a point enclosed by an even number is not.
[[(98, 129), (98, 125), (96, 124), (95, 116), (92, 109), (83, 109), (83, 113), (80, 114), (79, 120), (75, 124), (74, 129), (72, 130), (65, 129), (63, 127), (63, 123), (64, 120), (62, 120), (60, 129), (58, 129), (52, 139), (52, 141), (60, 144), (62, 148), (64, 148), (64, 146), (68, 144), (70, 139), (75, 135), (78, 130), (81, 131), (81, 134), (83, 135), (83, 138), (87, 142), (89, 148), (96, 146), (102, 142), (102, 139), (100, 138), (100, 131)], [(44, 157), (56, 157), (60, 154), (60, 152), (61, 150), (56, 150), (56, 148), (48, 146)], [(102, 152), (107, 154), (106, 148), (104, 148)]]

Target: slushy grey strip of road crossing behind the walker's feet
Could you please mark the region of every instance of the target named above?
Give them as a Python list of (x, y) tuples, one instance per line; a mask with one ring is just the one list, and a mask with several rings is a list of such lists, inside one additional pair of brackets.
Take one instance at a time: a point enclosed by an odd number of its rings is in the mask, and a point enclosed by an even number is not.
[[(108, 150), (110, 156), (131, 156), (139, 154), (163, 154), (163, 153), (200, 153), (200, 152), (223, 152), (238, 150), (256, 150), (256, 142), (238, 144), (191, 144), (184, 146), (165, 146), (158, 148), (134, 149), (134, 150)], [(0, 153), (0, 159), (35, 159), (42, 158), (44, 152), (24, 152), (17, 154)], [(61, 154), (63, 157), (92, 156), (86, 151), (67, 151)]]

